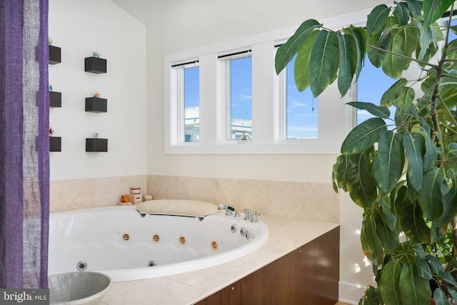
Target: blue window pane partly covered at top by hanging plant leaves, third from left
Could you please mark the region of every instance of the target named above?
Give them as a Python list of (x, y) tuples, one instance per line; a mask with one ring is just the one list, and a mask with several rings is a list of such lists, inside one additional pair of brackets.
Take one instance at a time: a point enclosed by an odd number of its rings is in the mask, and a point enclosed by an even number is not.
[(298, 91), (293, 78), (294, 64), (295, 57), (287, 65), (286, 136), (287, 139), (316, 139), (317, 99), (309, 88)]

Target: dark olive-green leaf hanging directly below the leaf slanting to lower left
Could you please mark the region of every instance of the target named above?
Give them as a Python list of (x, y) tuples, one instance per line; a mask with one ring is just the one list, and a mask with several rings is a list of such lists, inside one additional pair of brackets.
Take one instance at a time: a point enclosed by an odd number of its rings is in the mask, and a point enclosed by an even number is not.
[(363, 208), (371, 208), (375, 204), (377, 189), (371, 176), (371, 163), (365, 154), (351, 156), (344, 179), (355, 204)]

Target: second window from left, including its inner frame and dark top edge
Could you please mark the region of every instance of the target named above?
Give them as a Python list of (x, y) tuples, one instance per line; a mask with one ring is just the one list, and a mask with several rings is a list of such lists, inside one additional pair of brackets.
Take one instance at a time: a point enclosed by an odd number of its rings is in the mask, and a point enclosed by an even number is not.
[(250, 51), (219, 56), (226, 61), (227, 139), (252, 137), (252, 60)]

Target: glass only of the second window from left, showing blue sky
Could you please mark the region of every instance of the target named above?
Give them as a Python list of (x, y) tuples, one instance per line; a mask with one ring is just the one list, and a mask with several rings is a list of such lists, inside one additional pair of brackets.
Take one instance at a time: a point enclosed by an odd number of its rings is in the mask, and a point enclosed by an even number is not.
[(251, 57), (230, 61), (230, 134), (231, 139), (252, 136)]

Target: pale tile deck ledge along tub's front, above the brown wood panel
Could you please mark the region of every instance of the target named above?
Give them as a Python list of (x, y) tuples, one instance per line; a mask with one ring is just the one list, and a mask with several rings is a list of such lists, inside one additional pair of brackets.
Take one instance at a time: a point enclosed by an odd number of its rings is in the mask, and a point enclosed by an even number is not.
[(279, 216), (261, 216), (261, 219), (268, 225), (269, 239), (253, 253), (199, 271), (115, 282), (101, 304), (194, 304), (338, 226)]

